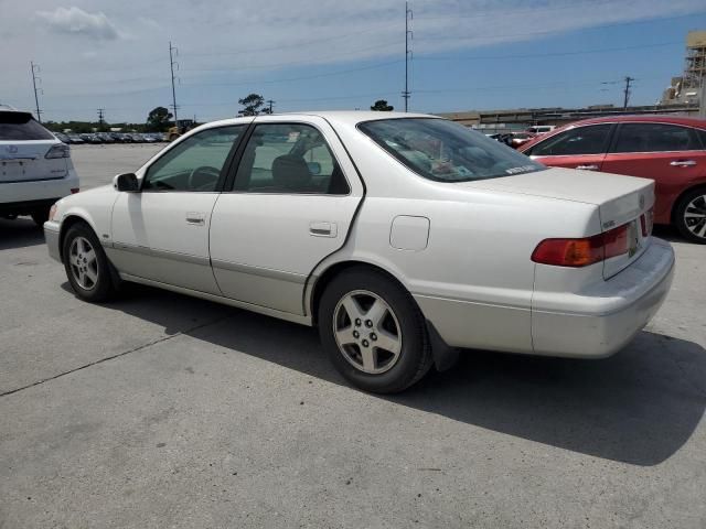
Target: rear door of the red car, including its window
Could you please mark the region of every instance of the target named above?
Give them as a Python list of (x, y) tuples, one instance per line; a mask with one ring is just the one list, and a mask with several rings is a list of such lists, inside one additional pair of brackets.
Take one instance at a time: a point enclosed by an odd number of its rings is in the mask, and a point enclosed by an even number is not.
[(620, 123), (603, 171), (655, 182), (655, 216), (668, 218), (674, 199), (706, 176), (706, 151), (698, 132), (670, 123)]

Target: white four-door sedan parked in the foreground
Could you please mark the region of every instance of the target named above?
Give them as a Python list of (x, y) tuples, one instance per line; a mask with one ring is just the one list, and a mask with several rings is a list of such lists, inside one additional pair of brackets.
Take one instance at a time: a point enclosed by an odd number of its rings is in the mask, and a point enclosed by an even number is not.
[(84, 300), (132, 281), (315, 325), (347, 380), (393, 392), (460, 348), (619, 350), (672, 280), (653, 203), (431, 116), (313, 112), (202, 126), (44, 230)]

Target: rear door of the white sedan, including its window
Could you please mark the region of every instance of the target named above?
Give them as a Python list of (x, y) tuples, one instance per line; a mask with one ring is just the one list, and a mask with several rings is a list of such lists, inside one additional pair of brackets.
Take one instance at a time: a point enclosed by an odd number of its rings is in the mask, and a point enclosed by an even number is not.
[(211, 220), (211, 260), (224, 295), (304, 314), (306, 282), (345, 242), (362, 197), (324, 119), (257, 118)]

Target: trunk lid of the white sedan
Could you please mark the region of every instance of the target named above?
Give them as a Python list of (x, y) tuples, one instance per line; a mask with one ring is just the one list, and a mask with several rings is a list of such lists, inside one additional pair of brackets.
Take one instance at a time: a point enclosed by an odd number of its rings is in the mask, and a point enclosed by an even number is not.
[[(552, 168), (545, 171), (463, 182), (458, 185), (505, 193), (543, 196), (598, 206), (603, 233), (627, 225), (629, 251), (603, 261), (609, 279), (630, 266), (650, 244), (654, 181), (607, 173)], [(559, 220), (557, 220), (559, 222)], [(645, 224), (648, 235), (643, 235)], [(585, 234), (592, 236), (597, 234)], [(552, 234), (547, 234), (552, 237)]]

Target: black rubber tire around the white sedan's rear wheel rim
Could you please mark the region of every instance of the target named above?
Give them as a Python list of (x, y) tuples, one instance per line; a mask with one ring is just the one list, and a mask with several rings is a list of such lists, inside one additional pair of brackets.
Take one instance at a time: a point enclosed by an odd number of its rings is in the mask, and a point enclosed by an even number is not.
[[(364, 373), (362, 360), (361, 366), (355, 367), (353, 360), (349, 359), (351, 354), (346, 354), (345, 350), (362, 350), (362, 345), (354, 344), (352, 349), (339, 347), (334, 333), (339, 303), (347, 295), (362, 291), (373, 293), (384, 301), (389, 309), (386, 317), (394, 317), (394, 324), (399, 327), (400, 352), (394, 363), (391, 361), (392, 367), (379, 374)], [(351, 321), (350, 324), (353, 328), (354, 322)], [(365, 325), (361, 332), (370, 332), (364, 327)], [(365, 391), (403, 391), (420, 380), (434, 363), (425, 320), (411, 295), (384, 273), (367, 268), (344, 270), (327, 285), (319, 303), (319, 334), (338, 371), (352, 385)], [(376, 350), (375, 358), (379, 358), (379, 349)]]

